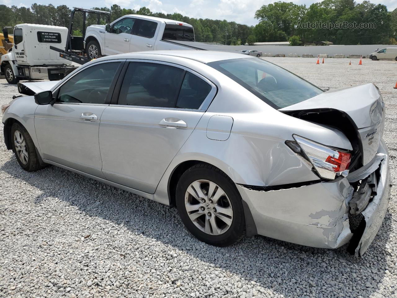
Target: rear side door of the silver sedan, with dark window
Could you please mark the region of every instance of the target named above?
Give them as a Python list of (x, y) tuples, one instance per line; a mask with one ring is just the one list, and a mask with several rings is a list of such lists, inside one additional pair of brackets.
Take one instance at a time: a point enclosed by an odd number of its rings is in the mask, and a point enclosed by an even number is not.
[(102, 172), (110, 181), (153, 194), (216, 87), (191, 70), (158, 61), (129, 62), (117, 86), (115, 104), (106, 108), (99, 127)]

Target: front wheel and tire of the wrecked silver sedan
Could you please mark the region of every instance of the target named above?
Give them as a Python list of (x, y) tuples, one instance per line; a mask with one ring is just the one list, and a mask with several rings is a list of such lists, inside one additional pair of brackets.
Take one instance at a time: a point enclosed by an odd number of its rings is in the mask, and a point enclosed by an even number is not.
[(12, 124), (11, 142), (12, 151), (21, 168), (28, 172), (33, 172), (41, 168), (35, 144), (27, 130), (19, 123)]

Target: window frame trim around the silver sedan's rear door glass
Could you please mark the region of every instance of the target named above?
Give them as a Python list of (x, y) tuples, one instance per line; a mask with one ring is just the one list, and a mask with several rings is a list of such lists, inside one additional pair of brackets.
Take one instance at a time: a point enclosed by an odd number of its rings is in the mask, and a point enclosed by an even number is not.
[[(120, 95), (121, 84), (123, 83), (124, 76), (125, 76), (125, 73), (127, 72), (127, 68), (128, 68), (129, 62), (157, 63), (157, 64), (165, 64), (165, 65), (169, 65), (169, 66), (180, 68), (180, 69), (185, 71), (184, 74), (183, 74), (183, 77), (182, 77), (181, 85), (183, 83), (183, 79), (185, 78), (186, 72), (190, 72), (191, 74), (196, 75), (197, 77), (199, 77), (200, 79), (202, 79), (206, 83), (208, 83), (211, 86), (211, 91), (210, 91), (210, 93), (208, 93), (207, 97), (204, 99), (204, 101), (202, 102), (200, 108), (198, 108), (198, 109), (167, 108), (167, 107), (164, 107), (164, 106), (132, 106), (132, 105), (118, 104), (118, 98), (119, 98), (119, 95)], [(180, 85), (180, 87), (181, 87), (181, 85)], [(181, 90), (180, 87), (179, 87), (178, 95), (179, 95), (179, 92)], [(111, 100), (110, 106), (123, 106), (123, 107), (131, 107), (131, 108), (155, 108), (155, 109), (159, 109), (159, 110), (181, 110), (181, 111), (206, 112), (206, 110), (208, 109), (208, 107), (210, 106), (212, 101), (214, 100), (214, 98), (215, 98), (217, 93), (218, 93), (218, 86), (216, 84), (214, 84), (212, 81), (210, 81), (209, 79), (207, 79), (203, 75), (198, 74), (194, 70), (192, 70), (190, 68), (187, 68), (185, 66), (182, 66), (182, 65), (179, 65), (179, 64), (175, 64), (175, 63), (171, 63), (171, 62), (161, 61), (161, 60), (127, 59), (127, 62), (124, 64), (123, 69), (121, 70), (121, 74), (119, 75), (118, 81), (117, 81), (116, 86), (114, 88), (114, 92), (113, 92), (113, 96), (112, 96), (112, 100)]]

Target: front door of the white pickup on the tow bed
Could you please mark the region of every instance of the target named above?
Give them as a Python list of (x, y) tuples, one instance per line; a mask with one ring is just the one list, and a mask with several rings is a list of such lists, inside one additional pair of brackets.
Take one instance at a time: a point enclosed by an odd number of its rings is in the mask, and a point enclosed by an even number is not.
[(128, 53), (131, 32), (137, 19), (125, 17), (110, 26), (110, 32), (105, 34), (105, 55)]

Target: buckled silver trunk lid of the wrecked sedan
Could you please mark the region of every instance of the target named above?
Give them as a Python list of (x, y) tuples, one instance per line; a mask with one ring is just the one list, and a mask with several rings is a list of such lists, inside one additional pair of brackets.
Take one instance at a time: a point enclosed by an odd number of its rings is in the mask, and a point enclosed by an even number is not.
[[(346, 134), (353, 147), (357, 141), (362, 165), (369, 163), (378, 152), (385, 112), (382, 95), (372, 83), (333, 89), (279, 111), (338, 128)], [(351, 126), (346, 125), (347, 120)], [(355, 134), (349, 130), (354, 130)]]

